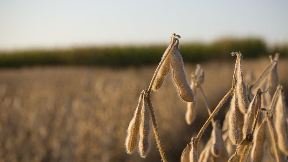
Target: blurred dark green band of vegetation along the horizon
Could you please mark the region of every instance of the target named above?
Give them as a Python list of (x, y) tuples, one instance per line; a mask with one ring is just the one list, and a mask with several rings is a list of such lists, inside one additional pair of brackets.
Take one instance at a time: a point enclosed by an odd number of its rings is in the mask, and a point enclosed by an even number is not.
[[(36, 65), (140, 66), (158, 63), (167, 45), (0, 52), (0, 67)], [(288, 45), (268, 47), (266, 42), (259, 38), (226, 38), (212, 43), (180, 42), (180, 53), (185, 63), (211, 59), (228, 60), (232, 59), (229, 54), (233, 51), (240, 51), (245, 58), (257, 58), (274, 53), (281, 53), (281, 57), (287, 57)]]

